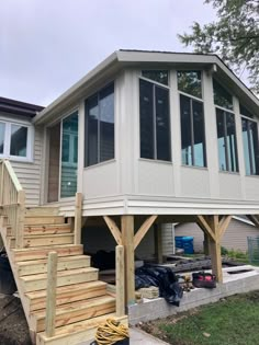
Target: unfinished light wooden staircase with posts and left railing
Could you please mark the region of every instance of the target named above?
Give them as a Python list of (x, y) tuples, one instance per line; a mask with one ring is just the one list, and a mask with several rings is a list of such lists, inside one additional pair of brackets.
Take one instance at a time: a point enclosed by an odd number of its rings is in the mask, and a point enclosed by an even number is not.
[(58, 208), (25, 208), (25, 192), (10, 162), (0, 161), (0, 233), (37, 345), (90, 341), (111, 318), (127, 324), (123, 246), (116, 248), (116, 294), (110, 294), (78, 244), (80, 199), (77, 193), (75, 227), (58, 215)]

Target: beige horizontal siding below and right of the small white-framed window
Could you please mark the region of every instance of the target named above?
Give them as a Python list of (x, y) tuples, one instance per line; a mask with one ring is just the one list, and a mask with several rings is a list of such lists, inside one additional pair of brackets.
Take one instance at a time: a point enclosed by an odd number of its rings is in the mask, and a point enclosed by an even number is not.
[(35, 128), (33, 162), (11, 161), (20, 183), (26, 193), (26, 205), (35, 206), (40, 203), (42, 130)]

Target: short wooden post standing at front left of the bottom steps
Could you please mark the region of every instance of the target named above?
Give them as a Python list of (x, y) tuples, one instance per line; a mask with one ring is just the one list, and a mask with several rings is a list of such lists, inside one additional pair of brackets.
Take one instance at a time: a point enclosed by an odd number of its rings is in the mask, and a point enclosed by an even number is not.
[(46, 299), (46, 336), (55, 335), (57, 289), (57, 253), (48, 253), (47, 260), (47, 299)]

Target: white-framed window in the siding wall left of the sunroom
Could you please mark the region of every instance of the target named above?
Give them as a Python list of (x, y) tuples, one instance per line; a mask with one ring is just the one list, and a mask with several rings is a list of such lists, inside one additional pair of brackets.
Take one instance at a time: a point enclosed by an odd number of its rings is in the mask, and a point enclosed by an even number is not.
[(0, 157), (32, 159), (32, 127), (0, 120)]

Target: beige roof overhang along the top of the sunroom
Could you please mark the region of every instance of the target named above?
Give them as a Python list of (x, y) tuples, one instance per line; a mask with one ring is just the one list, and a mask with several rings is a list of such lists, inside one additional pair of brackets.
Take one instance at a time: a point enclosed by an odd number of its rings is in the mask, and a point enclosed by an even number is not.
[(213, 72), (238, 96), (243, 103), (259, 116), (258, 97), (234, 74), (234, 72), (216, 56), (190, 53), (170, 51), (146, 51), (146, 50), (117, 50), (110, 55), (105, 60), (92, 69), (86, 77), (80, 79), (75, 85), (68, 89), (57, 100), (50, 103), (45, 110), (34, 117), (37, 125), (46, 124), (56, 113), (63, 112), (66, 107), (74, 104), (86, 95), (86, 93), (111, 76), (127, 67), (164, 66), (188, 68), (195, 65), (196, 68), (207, 69)]

